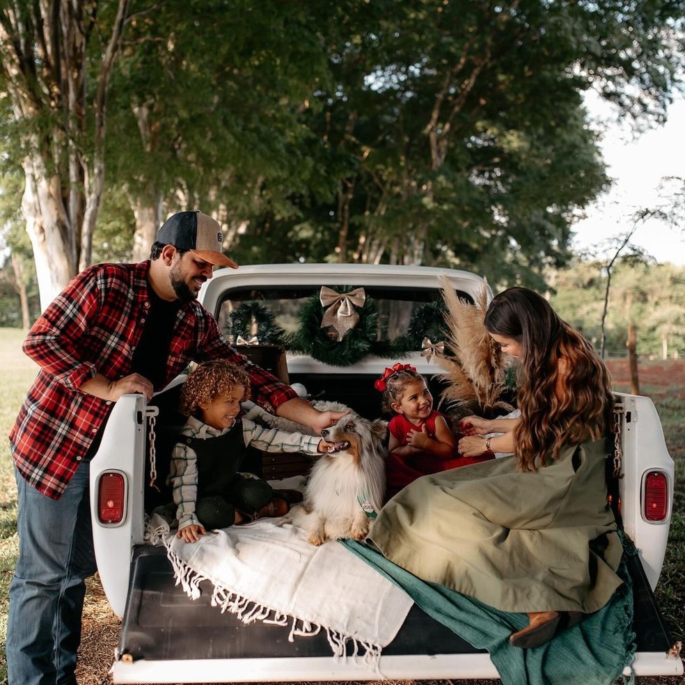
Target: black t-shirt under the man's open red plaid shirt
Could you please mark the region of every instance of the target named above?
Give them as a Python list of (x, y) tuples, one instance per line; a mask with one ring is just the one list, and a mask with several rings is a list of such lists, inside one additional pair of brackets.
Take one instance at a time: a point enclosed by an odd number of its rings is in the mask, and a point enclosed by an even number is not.
[(150, 310), (143, 324), (143, 335), (134, 350), (132, 373), (139, 373), (161, 390), (166, 380), (166, 365), (180, 300), (168, 302), (157, 295), (148, 283)]

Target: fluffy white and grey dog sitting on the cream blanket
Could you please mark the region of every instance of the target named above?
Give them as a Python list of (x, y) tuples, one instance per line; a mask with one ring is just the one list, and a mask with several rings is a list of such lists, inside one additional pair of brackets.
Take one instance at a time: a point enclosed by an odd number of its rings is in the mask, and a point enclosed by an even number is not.
[(304, 502), (293, 510), (294, 525), (306, 528), (311, 544), (366, 537), (372, 519), (362, 503), (375, 512), (383, 505), (387, 434), (387, 421), (370, 421), (354, 411), (322, 431), (336, 449), (315, 462)]

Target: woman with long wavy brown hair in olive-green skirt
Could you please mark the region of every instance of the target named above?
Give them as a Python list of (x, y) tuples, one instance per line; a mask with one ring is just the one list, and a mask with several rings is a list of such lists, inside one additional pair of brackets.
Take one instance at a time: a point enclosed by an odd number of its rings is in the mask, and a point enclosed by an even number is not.
[(420, 478), (388, 502), (370, 539), (425, 581), (528, 613), (510, 643), (537, 647), (622, 582), (604, 480), (613, 395), (592, 345), (532, 290), (498, 294), (485, 327), (519, 358), (521, 416), (467, 418), (459, 450), (512, 456)]

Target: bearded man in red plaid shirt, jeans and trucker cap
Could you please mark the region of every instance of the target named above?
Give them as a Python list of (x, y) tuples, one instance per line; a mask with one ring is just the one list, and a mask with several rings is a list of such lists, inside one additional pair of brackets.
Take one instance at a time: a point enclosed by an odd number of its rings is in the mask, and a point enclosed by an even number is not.
[(190, 361), (246, 368), (253, 399), (317, 433), (340, 412), (320, 412), (237, 354), (196, 300), (222, 252), (219, 223), (202, 212), (164, 222), (150, 259), (98, 264), (75, 276), (38, 318), (24, 352), (39, 366), (10, 433), (19, 559), (10, 585), (10, 685), (75, 684), (84, 578), (95, 572), (89, 462), (114, 402), (150, 400)]

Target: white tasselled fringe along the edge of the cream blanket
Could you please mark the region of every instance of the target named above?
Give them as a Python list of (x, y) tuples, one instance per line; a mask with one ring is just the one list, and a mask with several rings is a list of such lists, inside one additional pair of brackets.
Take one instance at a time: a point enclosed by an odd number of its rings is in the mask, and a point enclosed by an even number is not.
[[(173, 552), (168, 540), (168, 529), (164, 530), (163, 526), (155, 530), (149, 530), (148, 528), (147, 533), (149, 533), (150, 541), (157, 540), (158, 544), (160, 542), (164, 544), (166, 556), (169, 562), (171, 562), (173, 574), (176, 578), (176, 585), (181, 585), (186, 595), (191, 597), (191, 599), (198, 599), (202, 594), (200, 583), (206, 580), (212, 582), (211, 579), (191, 569)], [(146, 535), (146, 537), (148, 536)], [(294, 642), (295, 637), (309, 638), (321, 632), (322, 626), (317, 623), (311, 623), (294, 616), (291, 617), (281, 611), (258, 604), (258, 602), (246, 597), (241, 597), (222, 585), (212, 584), (214, 585), (211, 600), (212, 606), (218, 606), (221, 613), (228, 611), (228, 613), (236, 615), (243, 623), (249, 624), (255, 621), (262, 621), (268, 624), (287, 626), (288, 622), (292, 621), (290, 623), (290, 634), (288, 635), (288, 642), (291, 643)], [(379, 668), (382, 649), (380, 645), (375, 645), (365, 640), (358, 640), (330, 628), (326, 628), (326, 636), (333, 651), (333, 658), (336, 661), (340, 659), (347, 661), (348, 658), (357, 661), (361, 656), (363, 666), (370, 668), (379, 677), (383, 677)], [(352, 643), (352, 654), (347, 654), (348, 643)], [(360, 647), (363, 650), (363, 655), (359, 653)]]

